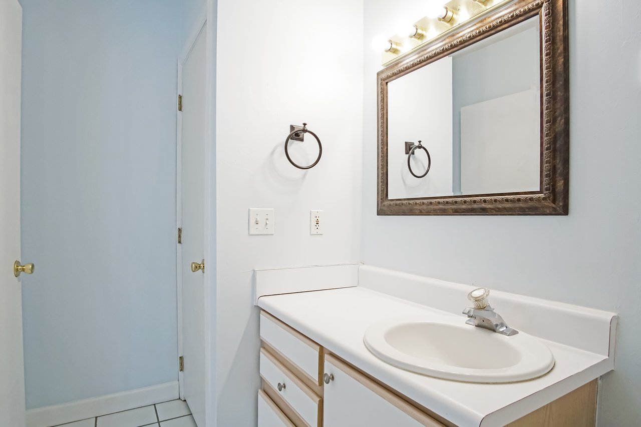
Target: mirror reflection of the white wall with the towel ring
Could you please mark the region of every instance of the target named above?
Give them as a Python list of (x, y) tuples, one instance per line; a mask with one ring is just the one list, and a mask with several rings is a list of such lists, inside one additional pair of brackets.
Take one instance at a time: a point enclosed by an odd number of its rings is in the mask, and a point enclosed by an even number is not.
[[(390, 81), (388, 91), (388, 197), (406, 199), (452, 195), (452, 58)], [(405, 142), (422, 144), (431, 156), (425, 178), (407, 167)], [(410, 160), (422, 175), (428, 165), (423, 150)]]

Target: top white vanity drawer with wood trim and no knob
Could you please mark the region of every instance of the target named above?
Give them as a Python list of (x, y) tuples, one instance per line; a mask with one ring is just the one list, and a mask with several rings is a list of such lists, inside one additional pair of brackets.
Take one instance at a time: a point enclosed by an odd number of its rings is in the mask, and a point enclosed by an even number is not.
[(267, 312), (260, 313), (260, 338), (308, 380), (322, 385), (322, 347)]

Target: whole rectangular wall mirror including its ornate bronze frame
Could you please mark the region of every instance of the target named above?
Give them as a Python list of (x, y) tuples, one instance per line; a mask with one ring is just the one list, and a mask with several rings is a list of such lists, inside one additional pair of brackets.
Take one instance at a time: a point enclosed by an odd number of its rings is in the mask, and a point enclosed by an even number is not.
[(379, 215), (567, 214), (565, 7), (515, 1), (378, 73)]

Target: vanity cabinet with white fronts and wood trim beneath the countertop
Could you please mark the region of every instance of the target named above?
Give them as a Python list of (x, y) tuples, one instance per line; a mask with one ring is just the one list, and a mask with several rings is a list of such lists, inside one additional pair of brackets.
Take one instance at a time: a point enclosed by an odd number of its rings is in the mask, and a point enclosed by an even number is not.
[[(258, 427), (453, 427), (267, 312), (260, 315)], [(597, 381), (508, 424), (594, 427)]]

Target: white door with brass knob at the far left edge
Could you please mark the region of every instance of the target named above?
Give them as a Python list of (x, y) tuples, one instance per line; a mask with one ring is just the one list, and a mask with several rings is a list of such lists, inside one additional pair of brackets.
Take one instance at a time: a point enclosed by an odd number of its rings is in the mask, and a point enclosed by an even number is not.
[(0, 0), (0, 426), (24, 427), (20, 259), (22, 8)]

